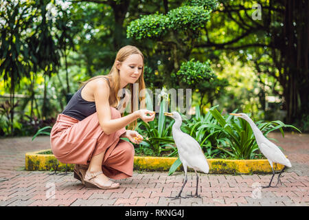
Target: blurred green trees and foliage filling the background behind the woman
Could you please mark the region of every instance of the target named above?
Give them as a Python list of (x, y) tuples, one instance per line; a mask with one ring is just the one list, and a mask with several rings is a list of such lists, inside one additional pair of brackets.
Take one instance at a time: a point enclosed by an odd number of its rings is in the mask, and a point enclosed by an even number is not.
[(80, 81), (124, 45), (151, 90), (192, 88), (193, 106), (309, 130), (307, 1), (1, 1), (0, 135), (52, 126)]

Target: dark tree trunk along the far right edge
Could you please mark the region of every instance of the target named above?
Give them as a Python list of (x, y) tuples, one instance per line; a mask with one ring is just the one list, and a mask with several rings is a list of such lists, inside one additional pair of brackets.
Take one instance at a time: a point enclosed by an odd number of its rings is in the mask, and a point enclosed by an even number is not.
[[(284, 1), (284, 32), (282, 35), (282, 63), (287, 123), (301, 120), (308, 114), (308, 1)], [(286, 42), (286, 43), (285, 43)]]

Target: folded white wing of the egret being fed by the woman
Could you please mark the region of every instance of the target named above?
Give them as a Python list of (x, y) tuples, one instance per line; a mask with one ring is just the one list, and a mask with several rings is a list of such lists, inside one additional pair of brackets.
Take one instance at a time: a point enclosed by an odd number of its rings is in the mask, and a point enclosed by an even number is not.
[(174, 139), (174, 141), (179, 149), (180, 159), (185, 160), (187, 165), (191, 168), (208, 173), (209, 166), (200, 144), (186, 133), (179, 135), (176, 139), (177, 140)]

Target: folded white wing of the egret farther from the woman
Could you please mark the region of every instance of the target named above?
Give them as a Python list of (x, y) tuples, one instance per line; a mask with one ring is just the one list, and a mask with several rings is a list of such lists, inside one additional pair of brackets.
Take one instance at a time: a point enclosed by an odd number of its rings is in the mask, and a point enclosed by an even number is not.
[(284, 153), (271, 141), (260, 144), (260, 150), (267, 159), (272, 162), (279, 163), (291, 167), (290, 161), (286, 158)]

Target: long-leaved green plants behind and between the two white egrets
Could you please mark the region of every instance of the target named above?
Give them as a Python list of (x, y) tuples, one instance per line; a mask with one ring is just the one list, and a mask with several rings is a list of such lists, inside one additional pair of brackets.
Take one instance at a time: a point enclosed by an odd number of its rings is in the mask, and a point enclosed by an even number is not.
[[(201, 115), (199, 107), (196, 107), (196, 115), (192, 121), (187, 121), (182, 128), (201, 144), (201, 148), (208, 158), (220, 157), (222, 159), (256, 159), (264, 157), (255, 141), (255, 136), (249, 123), (245, 120), (233, 118), (232, 115), (221, 115), (216, 109), (218, 105), (211, 107), (205, 115)], [(238, 111), (234, 110), (233, 113)], [(258, 121), (258, 128), (266, 136), (269, 132), (279, 129), (284, 136), (283, 127), (297, 129), (293, 125), (284, 124), (279, 120), (272, 122)], [(300, 131), (299, 131), (300, 132)], [(267, 136), (266, 136), (267, 137)], [(170, 167), (169, 174), (181, 165), (177, 159)]]

